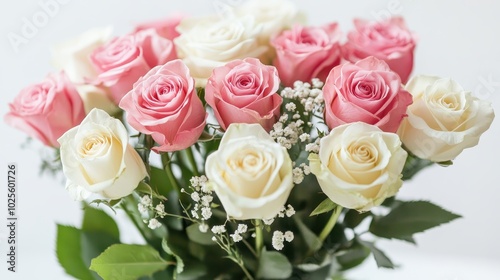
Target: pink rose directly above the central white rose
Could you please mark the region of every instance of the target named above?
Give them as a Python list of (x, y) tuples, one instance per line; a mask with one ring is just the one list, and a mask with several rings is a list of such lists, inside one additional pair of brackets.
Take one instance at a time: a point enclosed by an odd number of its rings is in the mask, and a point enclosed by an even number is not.
[(270, 131), (280, 114), (279, 84), (273, 66), (256, 58), (234, 60), (214, 69), (205, 100), (224, 130), (232, 123), (259, 123)]

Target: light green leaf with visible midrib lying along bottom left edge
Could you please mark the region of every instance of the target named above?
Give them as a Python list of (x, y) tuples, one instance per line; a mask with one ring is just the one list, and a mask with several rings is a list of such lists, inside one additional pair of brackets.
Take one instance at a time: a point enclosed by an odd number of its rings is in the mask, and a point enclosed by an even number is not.
[(104, 280), (135, 280), (151, 276), (171, 264), (149, 245), (116, 244), (93, 259), (90, 269)]

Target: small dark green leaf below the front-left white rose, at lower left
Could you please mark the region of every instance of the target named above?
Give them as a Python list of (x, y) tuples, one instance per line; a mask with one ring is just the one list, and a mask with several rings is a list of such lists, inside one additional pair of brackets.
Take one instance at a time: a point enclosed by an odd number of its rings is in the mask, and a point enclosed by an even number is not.
[(120, 231), (115, 220), (103, 210), (88, 205), (83, 212), (82, 231), (106, 233), (120, 240)]

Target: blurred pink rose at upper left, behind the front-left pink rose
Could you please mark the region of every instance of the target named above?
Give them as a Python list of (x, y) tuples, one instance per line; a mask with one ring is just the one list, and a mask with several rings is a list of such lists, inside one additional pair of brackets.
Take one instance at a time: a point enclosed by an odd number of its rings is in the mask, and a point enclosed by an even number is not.
[(172, 41), (152, 29), (115, 38), (90, 55), (99, 72), (95, 83), (109, 87), (116, 104), (151, 68), (175, 57)]

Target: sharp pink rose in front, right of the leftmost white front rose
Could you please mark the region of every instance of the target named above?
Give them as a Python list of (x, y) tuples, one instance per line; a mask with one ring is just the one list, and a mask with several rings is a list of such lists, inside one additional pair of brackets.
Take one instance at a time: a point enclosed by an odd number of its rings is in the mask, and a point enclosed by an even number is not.
[(156, 152), (172, 152), (193, 145), (205, 128), (207, 113), (196, 94), (194, 79), (181, 60), (151, 69), (134, 84), (120, 102), (128, 123), (151, 135), (160, 146)]

